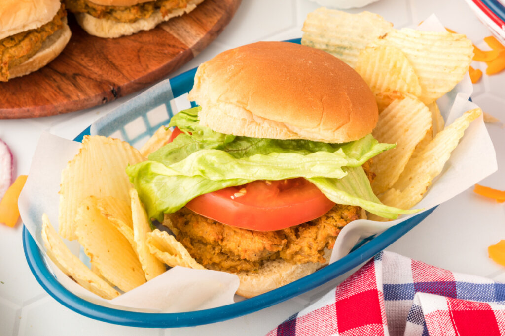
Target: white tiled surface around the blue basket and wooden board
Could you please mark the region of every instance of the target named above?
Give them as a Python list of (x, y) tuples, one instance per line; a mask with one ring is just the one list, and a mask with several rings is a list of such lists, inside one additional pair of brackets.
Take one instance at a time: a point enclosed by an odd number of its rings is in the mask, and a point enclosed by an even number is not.
[[(259, 40), (300, 37), (307, 13), (317, 7), (308, 0), (243, 0), (223, 33), (170, 77), (231, 47)], [(463, 0), (380, 0), (364, 9), (382, 15), (396, 28), (417, 24), (435, 13), (445, 26), (466, 34), (482, 48), (485, 48), (483, 37), (490, 35)], [(482, 64), (476, 63), (474, 68), (484, 71)], [(505, 72), (484, 76), (475, 85), (472, 97), (486, 112), (505, 121)], [(42, 130), (73, 139), (92, 121), (129, 98), (59, 116), (0, 120), (0, 138), (14, 152), (17, 173), (26, 174)], [(501, 124), (488, 124), (487, 128), (496, 147), (499, 170), (482, 183), (503, 190), (505, 129)], [(125, 327), (81, 316), (47, 295), (26, 263), (21, 229), (21, 226), (15, 229), (0, 226), (0, 335), (260, 335), (317, 300), (344, 278), (284, 303), (224, 322), (174, 329)], [(388, 250), (452, 271), (505, 281), (504, 268), (487, 257), (487, 246), (500, 239), (505, 239), (505, 204), (482, 199), (466, 190), (441, 205)]]

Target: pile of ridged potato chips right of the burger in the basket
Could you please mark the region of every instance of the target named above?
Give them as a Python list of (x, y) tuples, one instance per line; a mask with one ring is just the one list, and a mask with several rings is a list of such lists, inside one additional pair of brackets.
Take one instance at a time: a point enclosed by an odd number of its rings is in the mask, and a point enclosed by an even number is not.
[[(301, 43), (325, 50), (354, 68), (375, 94), (373, 136), (396, 148), (375, 157), (372, 188), (388, 206), (410, 209), (440, 174), (470, 122), (467, 111), (445, 127), (436, 100), (468, 72), (474, 48), (465, 35), (394, 29), (369, 12), (320, 8), (307, 16)], [(371, 215), (369, 219), (381, 221)]]

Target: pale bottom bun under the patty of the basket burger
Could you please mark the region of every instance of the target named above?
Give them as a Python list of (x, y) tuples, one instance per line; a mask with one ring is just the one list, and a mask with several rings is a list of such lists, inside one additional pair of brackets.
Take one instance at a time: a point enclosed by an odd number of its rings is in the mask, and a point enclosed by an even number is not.
[(236, 275), (240, 280), (240, 286), (236, 294), (251, 298), (306, 277), (328, 264), (331, 250), (325, 248), (323, 256), (327, 260), (325, 263), (294, 264), (283, 259), (276, 259), (265, 262), (258, 272), (238, 272)]

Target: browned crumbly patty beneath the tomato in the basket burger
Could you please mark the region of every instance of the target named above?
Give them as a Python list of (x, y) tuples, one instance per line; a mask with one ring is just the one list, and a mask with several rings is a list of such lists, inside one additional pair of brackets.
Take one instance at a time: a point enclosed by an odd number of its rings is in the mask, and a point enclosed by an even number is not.
[(335, 205), (322, 217), (279, 231), (251, 231), (218, 223), (187, 208), (166, 215), (165, 224), (199, 263), (212, 270), (258, 270), (266, 260), (321, 262), (340, 230), (360, 218), (361, 208)]

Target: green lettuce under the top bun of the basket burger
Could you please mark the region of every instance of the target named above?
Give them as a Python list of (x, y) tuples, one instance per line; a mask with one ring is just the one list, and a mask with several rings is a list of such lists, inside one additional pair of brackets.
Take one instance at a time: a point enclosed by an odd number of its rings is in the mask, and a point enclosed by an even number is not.
[(185, 134), (127, 168), (150, 218), (163, 219), (204, 193), (254, 180), (305, 177), (335, 203), (360, 206), (394, 219), (412, 213), (387, 207), (361, 167), (394, 147), (371, 135), (346, 144), (236, 137), (198, 122), (199, 107), (177, 113), (169, 126)]

